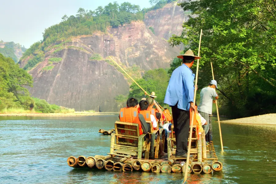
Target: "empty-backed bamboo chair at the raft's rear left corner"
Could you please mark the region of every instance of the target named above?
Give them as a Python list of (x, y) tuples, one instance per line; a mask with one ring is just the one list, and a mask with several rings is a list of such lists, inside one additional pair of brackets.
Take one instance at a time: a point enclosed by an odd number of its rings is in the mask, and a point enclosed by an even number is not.
[[(148, 134), (147, 134), (148, 135)], [(111, 134), (110, 153), (119, 157), (128, 157), (131, 155), (138, 159), (148, 159), (149, 136), (139, 135), (139, 125), (129, 122), (115, 122), (115, 132)]]

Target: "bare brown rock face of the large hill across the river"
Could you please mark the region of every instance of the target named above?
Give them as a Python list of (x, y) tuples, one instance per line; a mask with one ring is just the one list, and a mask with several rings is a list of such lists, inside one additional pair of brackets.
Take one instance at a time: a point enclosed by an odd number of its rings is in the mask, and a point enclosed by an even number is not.
[(114, 98), (127, 95), (129, 84), (109, 57), (126, 69), (135, 66), (143, 72), (168, 67), (179, 53), (142, 21), (59, 45), (49, 48), (45, 59), (29, 71), (34, 80), (29, 91), (34, 97), (75, 110), (118, 111), (122, 106)]

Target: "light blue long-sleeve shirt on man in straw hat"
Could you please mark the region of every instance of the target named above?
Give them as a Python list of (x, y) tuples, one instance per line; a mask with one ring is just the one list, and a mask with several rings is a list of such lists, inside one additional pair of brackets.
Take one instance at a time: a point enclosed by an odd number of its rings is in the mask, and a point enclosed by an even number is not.
[(186, 65), (177, 67), (171, 74), (164, 103), (176, 105), (177, 108), (188, 111), (190, 102), (194, 102), (194, 74)]

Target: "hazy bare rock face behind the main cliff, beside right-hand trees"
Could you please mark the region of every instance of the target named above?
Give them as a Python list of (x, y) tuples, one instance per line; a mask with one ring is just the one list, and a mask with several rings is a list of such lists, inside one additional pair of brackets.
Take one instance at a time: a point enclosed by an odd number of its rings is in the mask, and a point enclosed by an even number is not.
[[(169, 40), (171, 35), (179, 35), (182, 32), (182, 24), (189, 19), (190, 12), (177, 6), (177, 3), (185, 0), (171, 2), (158, 10), (146, 13), (144, 22), (148, 27), (152, 27), (155, 36)], [(182, 50), (180, 48), (180, 50)]]

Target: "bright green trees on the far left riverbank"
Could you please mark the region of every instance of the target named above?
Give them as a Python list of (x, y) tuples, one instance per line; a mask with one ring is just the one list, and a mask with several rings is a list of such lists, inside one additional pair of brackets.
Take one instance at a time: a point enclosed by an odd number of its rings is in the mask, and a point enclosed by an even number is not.
[(33, 86), (33, 78), (13, 59), (0, 54), (0, 113), (71, 112), (74, 109), (50, 105), (45, 100), (32, 98), (24, 86)]

